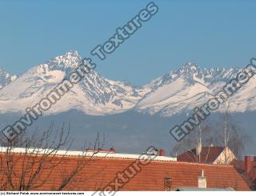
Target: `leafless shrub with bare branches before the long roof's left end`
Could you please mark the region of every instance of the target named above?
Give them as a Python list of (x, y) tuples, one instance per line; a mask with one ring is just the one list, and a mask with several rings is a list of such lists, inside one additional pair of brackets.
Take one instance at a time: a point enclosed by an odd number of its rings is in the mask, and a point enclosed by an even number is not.
[[(21, 134), (14, 141), (8, 142), (0, 139), (2, 153), (0, 153), (0, 190), (40, 190), (50, 179), (58, 166), (65, 165), (66, 154), (70, 150), (73, 140), (70, 138), (70, 125), (54, 131), (54, 124), (41, 136), (34, 134)], [(97, 154), (104, 144), (99, 134), (93, 145), (84, 146), (82, 154), (75, 158), (75, 166), (71, 170), (61, 170), (61, 182), (56, 182), (51, 190), (63, 190), (72, 181), (76, 180), (78, 173), (86, 167), (94, 154)], [(22, 152), (14, 153), (16, 147), (22, 147)], [(90, 149), (90, 155), (87, 150)], [(62, 150), (62, 154), (58, 151)]]

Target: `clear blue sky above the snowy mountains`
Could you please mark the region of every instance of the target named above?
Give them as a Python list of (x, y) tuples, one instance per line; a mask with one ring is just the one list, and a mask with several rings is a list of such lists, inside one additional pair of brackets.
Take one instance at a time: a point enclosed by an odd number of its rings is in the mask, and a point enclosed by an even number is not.
[[(0, 66), (21, 74), (39, 63), (106, 42), (151, 1), (0, 1)], [(244, 66), (256, 57), (255, 1), (154, 1), (158, 14), (106, 60), (106, 78), (142, 85), (186, 62)]]

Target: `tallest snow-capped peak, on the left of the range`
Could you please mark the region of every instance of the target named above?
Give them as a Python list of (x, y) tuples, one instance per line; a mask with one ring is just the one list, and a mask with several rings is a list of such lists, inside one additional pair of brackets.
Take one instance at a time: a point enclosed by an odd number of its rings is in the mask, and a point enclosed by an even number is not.
[[(78, 52), (70, 51), (34, 66), (18, 80), (0, 90), (0, 112), (23, 111), (26, 107), (33, 106), (62, 82), (81, 59)], [(47, 114), (71, 109), (82, 110), (86, 114), (118, 113), (133, 108), (147, 92), (126, 82), (103, 78), (92, 70)]]

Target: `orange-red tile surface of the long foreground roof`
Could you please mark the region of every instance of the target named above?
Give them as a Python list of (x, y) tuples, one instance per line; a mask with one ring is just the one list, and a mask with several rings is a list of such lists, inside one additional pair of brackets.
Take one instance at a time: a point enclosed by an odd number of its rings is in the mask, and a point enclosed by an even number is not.
[[(24, 158), (22, 156), (21, 154), (14, 155), (17, 174), (22, 170), (22, 158)], [(5, 162), (5, 154), (0, 154), (0, 157)], [(54, 157), (51, 162), (58, 162), (59, 159), (59, 157)], [(78, 157), (65, 157), (51, 174), (50, 164), (44, 166), (42, 174), (39, 174), (38, 181), (33, 187), (42, 183), (48, 174), (50, 176), (42, 186), (33, 188), (33, 190), (55, 190), (66, 172), (75, 168), (77, 161)], [(134, 158), (92, 158), (86, 162), (86, 166), (64, 190), (103, 190), (116, 178), (118, 172), (126, 170), (134, 161), (136, 161)], [(234, 190), (250, 190), (233, 166), (170, 161), (152, 161), (149, 165), (142, 166), (141, 172), (136, 174), (120, 190), (165, 190), (164, 179), (167, 176), (172, 178), (171, 188), (198, 187), (198, 176), (201, 175), (202, 170), (204, 170), (209, 188), (231, 187)], [(0, 174), (0, 178), (2, 177), (5, 178)], [(18, 183), (18, 178), (14, 178), (14, 183)]]

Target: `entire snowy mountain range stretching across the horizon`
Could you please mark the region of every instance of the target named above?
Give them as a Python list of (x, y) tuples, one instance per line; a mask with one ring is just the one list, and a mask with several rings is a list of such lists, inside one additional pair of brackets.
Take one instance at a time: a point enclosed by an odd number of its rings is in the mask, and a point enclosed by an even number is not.
[[(79, 62), (81, 57), (78, 52), (70, 51), (34, 66), (19, 76), (10, 76), (0, 69), (0, 113), (24, 113), (26, 107), (34, 106), (46, 97)], [(76, 109), (89, 115), (119, 114), (132, 110), (143, 114), (172, 116), (202, 105), (239, 70), (238, 67), (206, 69), (188, 62), (145, 86), (103, 78), (92, 70), (46, 114)], [(231, 112), (256, 110), (255, 82), (256, 78), (251, 78), (246, 86), (230, 98)]]

